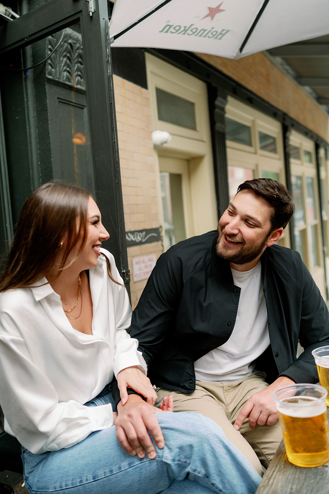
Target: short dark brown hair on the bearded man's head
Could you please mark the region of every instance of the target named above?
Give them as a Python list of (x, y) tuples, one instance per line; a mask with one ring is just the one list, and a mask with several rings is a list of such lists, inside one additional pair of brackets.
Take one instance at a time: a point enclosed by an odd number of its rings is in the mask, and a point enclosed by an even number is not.
[(242, 190), (250, 190), (274, 207), (270, 218), (272, 230), (286, 228), (295, 211), (295, 205), (290, 192), (283, 184), (272, 178), (254, 178), (239, 185), (238, 192)]

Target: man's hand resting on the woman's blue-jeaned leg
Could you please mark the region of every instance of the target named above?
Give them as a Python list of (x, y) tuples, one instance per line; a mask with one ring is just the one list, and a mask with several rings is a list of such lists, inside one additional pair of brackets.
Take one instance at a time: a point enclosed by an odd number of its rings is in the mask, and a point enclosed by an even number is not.
[[(115, 420), (117, 439), (127, 453), (139, 458), (145, 457), (145, 452), (150, 459), (157, 456), (155, 447), (150, 438), (154, 438), (159, 449), (164, 448), (164, 435), (155, 416), (155, 413), (172, 411), (173, 400), (169, 396), (165, 405), (167, 410), (160, 410), (145, 403), (138, 395), (129, 395), (125, 405), (118, 404), (118, 417)], [(148, 432), (149, 431), (149, 432)]]

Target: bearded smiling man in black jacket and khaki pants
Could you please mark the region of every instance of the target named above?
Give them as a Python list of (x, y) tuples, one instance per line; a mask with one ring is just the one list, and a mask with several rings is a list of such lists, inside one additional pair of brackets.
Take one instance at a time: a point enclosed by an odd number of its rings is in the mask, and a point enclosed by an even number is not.
[(217, 233), (162, 254), (130, 330), (158, 403), (173, 391), (174, 411), (215, 420), (258, 472), (282, 439), (272, 393), (317, 382), (311, 351), (329, 344), (319, 289), (300, 255), (275, 245), (293, 211), (282, 184), (244, 182)]

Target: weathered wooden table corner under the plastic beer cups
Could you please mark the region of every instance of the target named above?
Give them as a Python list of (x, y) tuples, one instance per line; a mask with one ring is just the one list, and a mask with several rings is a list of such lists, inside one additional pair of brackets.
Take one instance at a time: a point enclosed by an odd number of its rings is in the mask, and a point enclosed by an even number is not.
[[(327, 409), (329, 418), (329, 409)], [(282, 440), (255, 494), (328, 494), (329, 462), (315, 468), (292, 465)]]

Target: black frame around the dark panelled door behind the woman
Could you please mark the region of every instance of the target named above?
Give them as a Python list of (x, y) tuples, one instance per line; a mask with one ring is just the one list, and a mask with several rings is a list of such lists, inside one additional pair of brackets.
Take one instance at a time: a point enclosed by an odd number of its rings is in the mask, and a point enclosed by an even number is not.
[[(93, 0), (93, 5), (94, 11), (90, 12), (91, 2), (88, 0), (49, 0), (41, 4), (0, 28), (0, 55), (13, 48), (24, 48), (80, 20), (95, 199), (102, 212), (102, 221), (110, 233), (110, 239), (104, 243), (104, 247), (113, 253), (129, 288), (107, 0)], [(1, 144), (4, 144), (1, 125), (0, 139)], [(7, 224), (3, 235), (8, 242), (12, 223), (8, 224), (10, 200), (8, 184), (5, 182), (6, 160), (2, 145), (1, 149), (0, 201)]]

